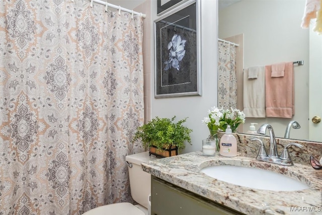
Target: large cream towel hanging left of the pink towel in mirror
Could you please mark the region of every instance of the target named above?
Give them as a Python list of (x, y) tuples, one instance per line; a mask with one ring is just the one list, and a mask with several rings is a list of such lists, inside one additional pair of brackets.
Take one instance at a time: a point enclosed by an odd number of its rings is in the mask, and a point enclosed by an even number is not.
[(249, 79), (244, 69), (244, 113), (246, 117), (265, 118), (265, 66), (257, 66), (257, 79)]

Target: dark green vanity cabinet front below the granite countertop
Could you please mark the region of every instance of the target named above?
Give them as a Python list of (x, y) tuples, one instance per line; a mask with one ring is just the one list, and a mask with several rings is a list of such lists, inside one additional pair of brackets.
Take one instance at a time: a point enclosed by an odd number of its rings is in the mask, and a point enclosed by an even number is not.
[(243, 214), (162, 179), (151, 177), (151, 215)]

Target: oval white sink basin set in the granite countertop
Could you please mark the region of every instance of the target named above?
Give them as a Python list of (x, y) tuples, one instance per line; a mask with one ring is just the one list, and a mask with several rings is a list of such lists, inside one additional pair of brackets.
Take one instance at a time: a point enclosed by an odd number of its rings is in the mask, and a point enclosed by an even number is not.
[(220, 181), (254, 189), (296, 191), (309, 188), (289, 176), (252, 167), (221, 165), (203, 168), (201, 172)]

